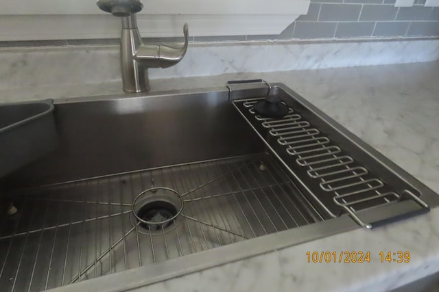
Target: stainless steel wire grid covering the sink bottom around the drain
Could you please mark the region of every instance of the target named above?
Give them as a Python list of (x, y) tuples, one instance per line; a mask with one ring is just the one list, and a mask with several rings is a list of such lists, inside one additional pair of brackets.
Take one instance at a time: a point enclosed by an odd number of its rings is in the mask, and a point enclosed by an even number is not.
[[(184, 202), (159, 230), (142, 228), (132, 213), (134, 196), (153, 185), (176, 189)], [(58, 287), (322, 220), (266, 154), (62, 183), (14, 202), (21, 213), (0, 237), (7, 291)]]

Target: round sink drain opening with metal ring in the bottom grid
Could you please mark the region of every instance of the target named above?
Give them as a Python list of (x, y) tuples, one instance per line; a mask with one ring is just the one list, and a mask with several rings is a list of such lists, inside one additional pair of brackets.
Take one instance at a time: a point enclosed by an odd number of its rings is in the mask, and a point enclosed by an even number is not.
[(169, 187), (153, 187), (142, 191), (132, 202), (132, 214), (139, 226), (148, 232), (174, 226), (183, 209), (183, 198)]

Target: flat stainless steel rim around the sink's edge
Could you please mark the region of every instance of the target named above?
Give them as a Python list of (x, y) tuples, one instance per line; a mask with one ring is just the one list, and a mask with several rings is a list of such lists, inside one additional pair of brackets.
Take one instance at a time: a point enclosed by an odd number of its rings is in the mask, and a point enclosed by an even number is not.
[[(329, 122), (331, 126), (333, 126), (337, 131), (340, 131), (342, 135), (348, 136), (351, 140), (353, 140), (355, 144), (357, 144), (357, 146), (368, 152), (368, 154), (372, 155), (375, 159), (377, 159), (377, 161), (385, 164), (386, 168), (390, 168), (392, 172), (395, 172), (399, 176), (403, 177), (410, 184), (414, 185), (414, 187), (421, 191), (421, 193), (423, 194), (423, 198), (427, 200), (427, 202), (429, 202), (432, 208), (437, 206), (437, 204), (433, 204), (431, 200), (428, 200), (428, 198), (431, 198), (431, 196), (436, 195), (434, 191), (423, 185), (423, 183), (420, 183), (420, 181), (405, 172), (405, 170), (390, 161), (390, 159), (375, 150), (375, 148), (372, 148), (372, 146), (368, 145), (359, 137), (348, 131), (341, 124), (330, 118), (327, 114), (324, 114), (323, 111), (320, 111), (320, 109), (309, 103), (305, 98), (302, 98), (302, 96), (287, 88), (287, 86), (283, 85), (283, 83), (272, 83), (272, 86), (281, 88), (282, 90), (290, 94), (292, 98), (295, 98), (297, 101), (304, 104), (306, 107), (308, 107), (310, 111), (313, 111), (314, 114)], [(123, 96), (122, 99), (148, 98), (150, 96), (167, 96), (168, 94), (175, 96), (187, 93), (204, 93), (207, 91), (227, 92), (228, 89), (226, 88), (226, 86), (223, 86), (193, 90), (171, 90), (166, 92), (152, 92), (149, 94), (127, 94), (126, 97)], [(261, 86), (261, 92), (263, 91), (266, 92), (265, 85)], [(104, 101), (108, 99), (120, 98), (121, 94), (117, 94), (111, 96), (94, 96), (90, 98), (71, 98), (60, 101), (59, 103)], [(240, 99), (241, 98), (242, 97), (240, 96)], [(231, 99), (233, 99), (233, 96)], [(224, 245), (222, 247), (214, 248), (212, 250), (206, 250), (204, 252), (197, 252), (195, 254), (189, 254), (187, 256), (169, 259), (160, 263), (145, 265), (143, 267), (137, 267), (134, 269), (129, 269), (127, 271), (121, 271), (107, 276), (100, 276), (99, 278), (69, 284), (64, 287), (51, 289), (50, 291), (126, 291), (127, 289), (135, 289), (145, 286), (147, 284), (153, 284), (155, 282), (161, 282), (169, 278), (175, 278), (177, 276), (190, 274), (195, 271), (200, 271), (202, 269), (208, 269), (211, 267), (216, 267), (218, 265), (232, 263), (234, 261), (239, 261), (250, 256), (257, 256), (259, 254), (287, 248), (292, 245), (298, 245), (300, 243), (305, 243), (324, 237), (330, 237), (331, 235), (337, 235), (339, 233), (344, 233), (346, 231), (354, 230), (357, 228), (361, 227), (357, 225), (351, 219), (351, 217), (345, 215), (342, 217), (325, 220), (323, 222), (318, 222), (316, 224), (300, 226), (298, 228), (281, 231), (279, 233), (264, 235), (262, 237), (257, 237), (251, 240), (246, 240), (230, 245)], [(215, 259), (215, 261), (213, 261), (213, 259)]]

